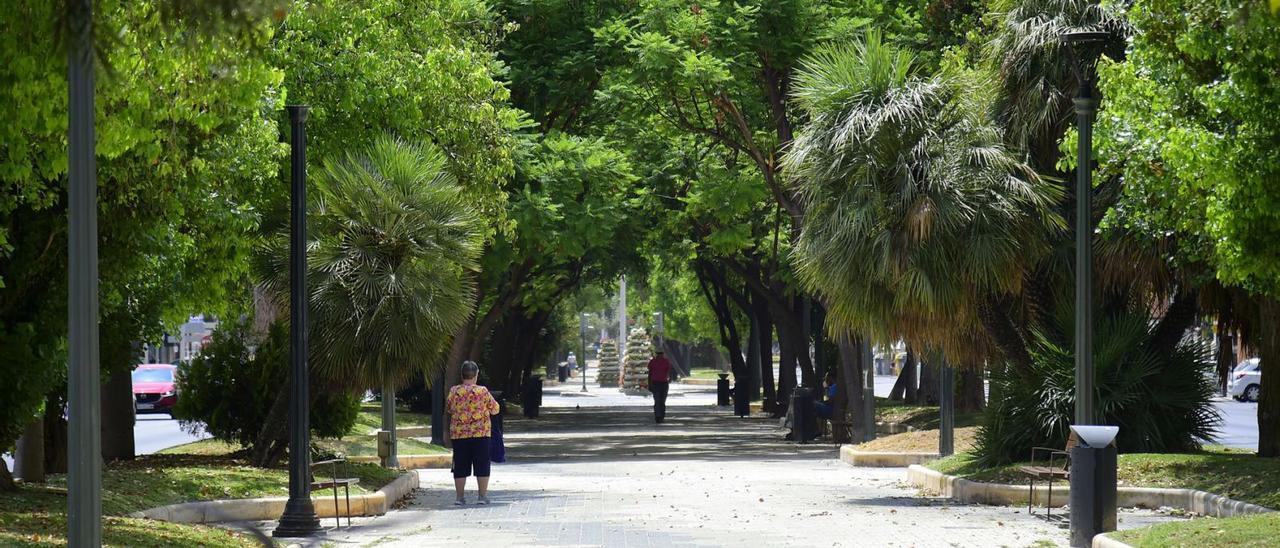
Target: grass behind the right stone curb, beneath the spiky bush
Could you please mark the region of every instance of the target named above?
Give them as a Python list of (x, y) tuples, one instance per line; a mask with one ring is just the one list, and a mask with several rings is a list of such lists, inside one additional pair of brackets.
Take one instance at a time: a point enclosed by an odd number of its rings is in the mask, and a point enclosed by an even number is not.
[[(975, 481), (1021, 484), (1018, 465), (978, 467), (968, 453), (933, 461), (931, 469)], [(1280, 458), (1211, 446), (1197, 453), (1121, 455), (1120, 485), (1199, 489), (1236, 501), (1280, 508)]]

